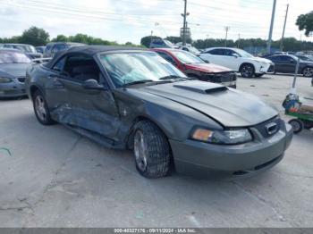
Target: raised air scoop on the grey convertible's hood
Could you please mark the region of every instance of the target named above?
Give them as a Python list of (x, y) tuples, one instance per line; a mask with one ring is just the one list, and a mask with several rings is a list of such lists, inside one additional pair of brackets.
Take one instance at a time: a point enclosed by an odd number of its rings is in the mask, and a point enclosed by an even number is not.
[(177, 85), (173, 85), (174, 88), (181, 88), (181, 89), (185, 89), (191, 92), (197, 92), (200, 94), (213, 94), (213, 93), (219, 93), (219, 92), (224, 92), (227, 91), (228, 88), (222, 86), (222, 85), (218, 85), (218, 84), (214, 84), (214, 83), (190, 83), (189, 82), (184, 82), (183, 84), (177, 84)]

